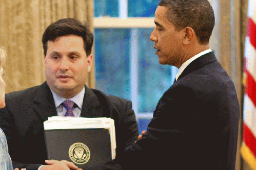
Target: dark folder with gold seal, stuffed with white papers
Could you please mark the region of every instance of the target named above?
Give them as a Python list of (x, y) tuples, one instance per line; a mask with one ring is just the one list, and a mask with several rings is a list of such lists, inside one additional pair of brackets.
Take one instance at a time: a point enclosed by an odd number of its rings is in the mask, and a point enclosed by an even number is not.
[(115, 158), (114, 120), (107, 117), (49, 117), (44, 122), (48, 159), (78, 167), (104, 164)]

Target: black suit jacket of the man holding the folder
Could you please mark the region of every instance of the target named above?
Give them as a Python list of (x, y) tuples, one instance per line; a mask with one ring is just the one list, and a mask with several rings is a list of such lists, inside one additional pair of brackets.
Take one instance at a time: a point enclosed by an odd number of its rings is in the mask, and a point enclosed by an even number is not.
[[(131, 102), (85, 87), (82, 117), (111, 117), (115, 121), (116, 156), (139, 135)], [(57, 115), (47, 83), (6, 94), (0, 127), (6, 134), (13, 167), (37, 169), (47, 159), (43, 122)]]

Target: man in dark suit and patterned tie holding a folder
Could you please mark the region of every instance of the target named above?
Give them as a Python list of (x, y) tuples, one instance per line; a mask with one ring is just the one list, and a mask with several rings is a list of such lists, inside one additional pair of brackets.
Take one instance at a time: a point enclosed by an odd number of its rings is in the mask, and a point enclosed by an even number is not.
[[(43, 165), (47, 159), (43, 122), (55, 115), (113, 118), (119, 156), (139, 131), (130, 101), (85, 86), (93, 63), (93, 35), (88, 27), (73, 18), (61, 19), (46, 29), (42, 41), (46, 82), (6, 94), (6, 107), (0, 111), (13, 167), (77, 168), (68, 161)], [(67, 103), (74, 106), (68, 108)]]

